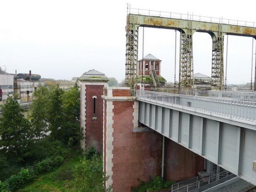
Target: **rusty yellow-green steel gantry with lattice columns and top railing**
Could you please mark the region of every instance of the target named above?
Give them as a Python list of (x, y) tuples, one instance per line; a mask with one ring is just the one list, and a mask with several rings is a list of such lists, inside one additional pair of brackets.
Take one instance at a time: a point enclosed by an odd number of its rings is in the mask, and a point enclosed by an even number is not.
[[(247, 36), (256, 39), (256, 23), (254, 22), (128, 7), (126, 25), (126, 85), (132, 89), (135, 89), (137, 84), (139, 26), (166, 28), (180, 32), (179, 88), (181, 89), (191, 89), (192, 87), (192, 37), (194, 32), (205, 32), (212, 37), (212, 90), (222, 90), (224, 88), (224, 35)], [(256, 90), (255, 83), (254, 90)]]

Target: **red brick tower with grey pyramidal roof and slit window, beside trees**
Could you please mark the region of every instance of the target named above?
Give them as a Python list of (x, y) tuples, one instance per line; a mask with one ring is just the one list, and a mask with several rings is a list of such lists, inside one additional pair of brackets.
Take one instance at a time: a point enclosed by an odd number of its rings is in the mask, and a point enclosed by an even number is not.
[(96, 70), (85, 72), (80, 78), (80, 127), (83, 150), (94, 146), (102, 153), (103, 149), (103, 99), (104, 87), (108, 86), (105, 74)]

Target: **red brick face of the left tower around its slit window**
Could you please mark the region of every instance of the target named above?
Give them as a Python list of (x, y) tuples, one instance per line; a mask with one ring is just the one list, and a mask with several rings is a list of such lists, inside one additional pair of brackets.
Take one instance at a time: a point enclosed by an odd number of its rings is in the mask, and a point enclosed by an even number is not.
[[(103, 148), (103, 85), (86, 85), (86, 149), (94, 146), (102, 153)], [(96, 96), (96, 118), (94, 117), (94, 99)]]

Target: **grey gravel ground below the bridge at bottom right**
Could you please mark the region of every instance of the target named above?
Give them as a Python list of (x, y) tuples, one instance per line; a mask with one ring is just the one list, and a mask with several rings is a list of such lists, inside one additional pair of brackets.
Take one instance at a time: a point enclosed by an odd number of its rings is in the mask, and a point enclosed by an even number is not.
[(222, 187), (214, 192), (244, 192), (245, 188), (248, 188), (249, 186), (252, 186), (252, 184), (240, 179), (237, 182)]

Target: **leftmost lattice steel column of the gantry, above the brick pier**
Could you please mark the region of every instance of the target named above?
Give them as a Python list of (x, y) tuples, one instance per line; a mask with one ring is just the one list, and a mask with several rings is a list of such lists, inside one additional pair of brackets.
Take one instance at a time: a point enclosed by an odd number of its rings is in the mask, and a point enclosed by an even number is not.
[(137, 62), (138, 62), (138, 27), (130, 24), (130, 15), (127, 16), (126, 26), (126, 73), (125, 83), (131, 89), (137, 85)]

